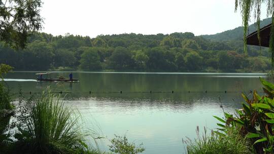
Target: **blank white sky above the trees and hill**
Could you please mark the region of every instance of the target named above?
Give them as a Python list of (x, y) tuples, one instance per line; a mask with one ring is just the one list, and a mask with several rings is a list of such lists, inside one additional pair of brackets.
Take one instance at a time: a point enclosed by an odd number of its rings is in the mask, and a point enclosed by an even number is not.
[(215, 34), (242, 25), (234, 0), (44, 0), (41, 15), (43, 32), (90, 37), (131, 32)]

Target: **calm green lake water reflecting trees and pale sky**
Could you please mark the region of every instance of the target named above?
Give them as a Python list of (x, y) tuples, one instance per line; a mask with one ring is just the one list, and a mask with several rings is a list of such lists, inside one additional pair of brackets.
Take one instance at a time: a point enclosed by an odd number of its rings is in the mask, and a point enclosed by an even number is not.
[[(66, 76), (70, 72), (53, 72)], [(5, 76), (14, 93), (20, 85), (25, 96), (47, 86), (67, 93), (65, 104), (82, 114), (84, 129), (95, 129), (108, 139), (98, 141), (108, 150), (114, 134), (144, 143), (144, 153), (185, 153), (182, 138), (194, 139), (197, 126), (217, 128), (212, 115), (241, 107), (241, 93), (261, 90), (260, 73), (133, 73), (73, 72), (79, 83), (36, 82), (35, 72), (13, 72)], [(122, 91), (122, 93), (120, 93)], [(151, 91), (151, 93), (150, 93)], [(172, 93), (174, 91), (174, 93)], [(207, 91), (207, 92), (206, 92)], [(225, 93), (226, 91), (226, 93)], [(89, 94), (91, 92), (91, 94)], [(219, 100), (220, 98), (220, 100)]]

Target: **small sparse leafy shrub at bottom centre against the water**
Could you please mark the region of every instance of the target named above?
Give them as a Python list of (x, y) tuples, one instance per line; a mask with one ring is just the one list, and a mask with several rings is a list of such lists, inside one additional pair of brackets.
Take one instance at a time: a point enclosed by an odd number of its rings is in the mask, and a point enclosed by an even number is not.
[[(115, 135), (115, 134), (114, 134)], [(112, 145), (110, 145), (110, 151), (119, 154), (137, 154), (145, 151), (142, 147), (143, 143), (136, 146), (134, 143), (129, 143), (126, 136), (117, 136), (111, 140)]]

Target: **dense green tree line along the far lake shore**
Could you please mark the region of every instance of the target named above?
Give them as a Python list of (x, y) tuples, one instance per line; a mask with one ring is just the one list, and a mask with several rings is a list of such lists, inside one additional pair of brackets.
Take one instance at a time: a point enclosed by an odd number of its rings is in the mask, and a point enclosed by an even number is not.
[(99, 35), (33, 33), (25, 49), (0, 44), (0, 63), (15, 70), (265, 71), (268, 51), (243, 41), (213, 42), (193, 33)]

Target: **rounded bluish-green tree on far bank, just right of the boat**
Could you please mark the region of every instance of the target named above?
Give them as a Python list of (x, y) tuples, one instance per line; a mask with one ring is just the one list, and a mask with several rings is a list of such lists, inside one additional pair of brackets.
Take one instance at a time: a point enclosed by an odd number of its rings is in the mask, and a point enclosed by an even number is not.
[(80, 68), (84, 70), (101, 69), (100, 57), (97, 50), (88, 48), (83, 52), (80, 60)]

